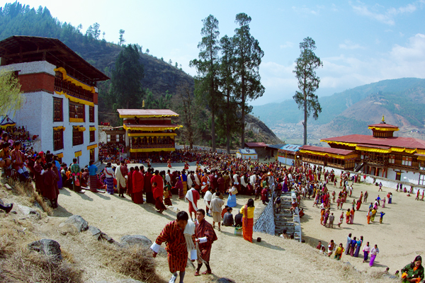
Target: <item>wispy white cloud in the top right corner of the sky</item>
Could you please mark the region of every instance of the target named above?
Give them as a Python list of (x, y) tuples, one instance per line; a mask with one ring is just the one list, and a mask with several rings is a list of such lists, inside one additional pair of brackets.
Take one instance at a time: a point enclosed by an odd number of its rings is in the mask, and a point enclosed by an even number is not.
[(372, 18), (375, 21), (385, 23), (387, 25), (395, 25), (395, 16), (402, 13), (413, 13), (416, 11), (416, 5), (421, 1), (414, 2), (414, 4), (407, 4), (407, 6), (402, 6), (399, 8), (390, 7), (386, 11), (382, 11), (382, 6), (375, 5), (373, 7), (368, 7), (365, 4), (358, 2), (357, 5), (351, 4), (353, 10), (361, 16), (366, 16)]

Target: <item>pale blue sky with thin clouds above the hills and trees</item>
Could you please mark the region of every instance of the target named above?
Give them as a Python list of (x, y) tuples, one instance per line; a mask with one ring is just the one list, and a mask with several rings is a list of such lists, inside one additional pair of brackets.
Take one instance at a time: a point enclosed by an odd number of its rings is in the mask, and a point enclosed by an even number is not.
[[(1, 6), (9, 1), (0, 1)], [(30, 7), (46, 6), (62, 22), (80, 23), (85, 31), (99, 23), (105, 39), (142, 45), (145, 52), (178, 62), (186, 73), (197, 59), (202, 20), (219, 21), (220, 37), (234, 35), (237, 13), (251, 16), (251, 35), (264, 52), (260, 65), (263, 96), (251, 105), (291, 99), (297, 91), (293, 74), (299, 44), (316, 42), (323, 67), (318, 96), (385, 79), (425, 79), (425, 0), (418, 1), (136, 1), (25, 0)]]

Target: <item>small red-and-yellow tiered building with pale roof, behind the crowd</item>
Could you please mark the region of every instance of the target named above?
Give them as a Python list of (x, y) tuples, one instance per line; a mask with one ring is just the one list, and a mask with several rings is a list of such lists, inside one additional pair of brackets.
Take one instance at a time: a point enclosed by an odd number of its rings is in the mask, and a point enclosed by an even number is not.
[(123, 118), (125, 146), (132, 159), (152, 155), (164, 156), (175, 151), (176, 129), (183, 127), (172, 122), (179, 114), (169, 109), (118, 109)]

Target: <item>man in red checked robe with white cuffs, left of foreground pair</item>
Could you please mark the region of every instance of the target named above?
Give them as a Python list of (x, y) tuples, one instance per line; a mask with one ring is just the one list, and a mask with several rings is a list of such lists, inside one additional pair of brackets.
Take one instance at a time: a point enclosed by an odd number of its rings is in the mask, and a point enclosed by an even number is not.
[(184, 229), (188, 224), (189, 216), (187, 212), (179, 212), (177, 220), (166, 224), (161, 234), (159, 234), (155, 243), (152, 244), (153, 257), (157, 257), (162, 243), (166, 243), (166, 253), (169, 262), (169, 269), (172, 274), (169, 282), (174, 283), (177, 279), (177, 272), (180, 272), (180, 282), (183, 283), (186, 273), (186, 264), (188, 262), (188, 249)]

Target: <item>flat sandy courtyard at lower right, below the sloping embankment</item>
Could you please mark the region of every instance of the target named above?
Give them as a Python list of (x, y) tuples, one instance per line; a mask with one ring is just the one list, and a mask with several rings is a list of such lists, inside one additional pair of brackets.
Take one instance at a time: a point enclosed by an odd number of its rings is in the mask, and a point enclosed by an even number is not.
[[(338, 184), (339, 186), (339, 184)], [(370, 242), (370, 246), (378, 245), (379, 255), (375, 259), (375, 265), (369, 267), (368, 263), (363, 262), (363, 248), (358, 258), (352, 258), (350, 255), (343, 255), (342, 260), (351, 262), (358, 270), (385, 270), (390, 267), (390, 274), (396, 270), (401, 270), (407, 263), (412, 262), (416, 255), (424, 254), (424, 230), (421, 227), (422, 216), (425, 213), (425, 202), (415, 201), (415, 196), (407, 197), (403, 192), (395, 192), (393, 189), (382, 187), (383, 192), (378, 192), (378, 187), (369, 184), (354, 184), (352, 197), (348, 197), (344, 204), (344, 224), (341, 228), (334, 225), (334, 229), (325, 228), (320, 225), (320, 209), (312, 207), (312, 200), (302, 200), (301, 207), (305, 210), (305, 216), (302, 218), (302, 238), (312, 246), (317, 246), (318, 241), (322, 241), (327, 246), (332, 239), (337, 244), (346, 245), (348, 233), (352, 236), (363, 236), (364, 241)], [(340, 189), (331, 185), (330, 191), (336, 191), (336, 198)], [(351, 208), (353, 199), (358, 199), (365, 190), (368, 191), (368, 203), (363, 203), (359, 211), (354, 214), (354, 224), (346, 224), (345, 212)], [(366, 213), (368, 212), (370, 202), (374, 202), (376, 197), (386, 197), (387, 193), (392, 192), (392, 204), (385, 203), (385, 208), (378, 208), (375, 221), (367, 224)], [(379, 223), (380, 212), (385, 212), (382, 224)], [(331, 204), (331, 212), (334, 212), (335, 221), (338, 223), (341, 210), (336, 210), (336, 202)]]

